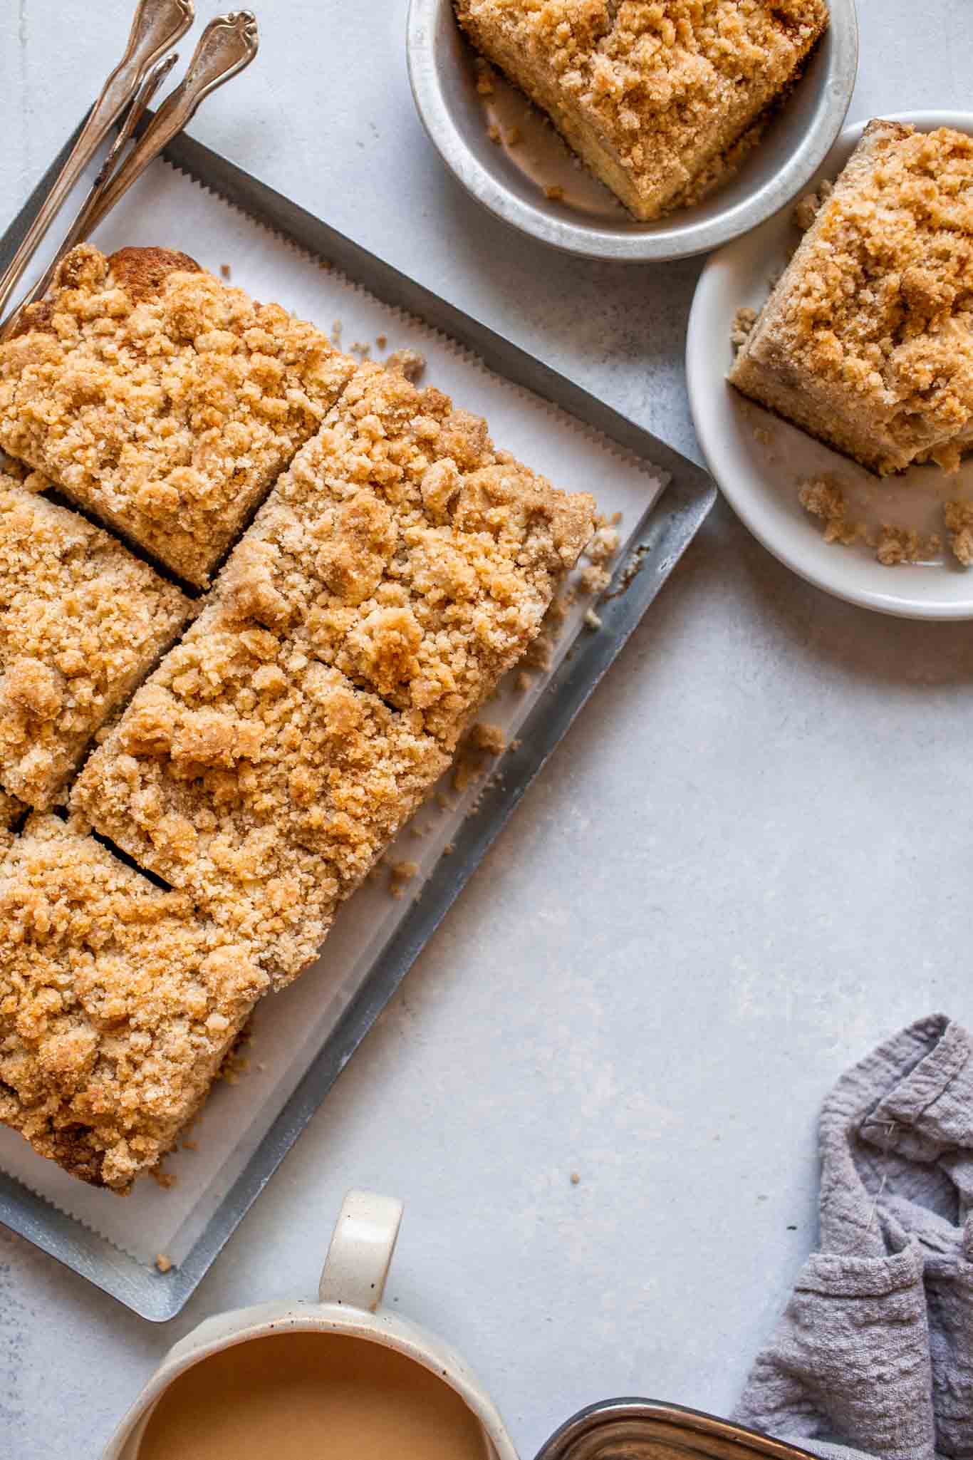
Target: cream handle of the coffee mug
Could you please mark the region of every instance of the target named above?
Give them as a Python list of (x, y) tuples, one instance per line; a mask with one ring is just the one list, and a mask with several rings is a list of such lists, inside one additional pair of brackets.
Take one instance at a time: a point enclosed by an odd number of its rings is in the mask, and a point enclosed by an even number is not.
[(376, 1191), (349, 1191), (334, 1223), (318, 1298), (375, 1313), (395, 1251), (403, 1203)]

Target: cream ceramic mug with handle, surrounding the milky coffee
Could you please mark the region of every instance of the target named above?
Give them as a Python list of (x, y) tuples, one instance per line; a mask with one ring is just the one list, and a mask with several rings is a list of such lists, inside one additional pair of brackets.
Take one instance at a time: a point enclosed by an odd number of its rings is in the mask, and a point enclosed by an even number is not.
[(137, 1460), (152, 1412), (169, 1384), (212, 1353), (280, 1333), (346, 1333), (395, 1349), (430, 1369), (460, 1394), (478, 1421), (490, 1460), (518, 1460), (496, 1406), (448, 1343), (382, 1308), (403, 1203), (373, 1191), (349, 1191), (318, 1286), (318, 1302), (261, 1302), (207, 1318), (162, 1361), (121, 1421), (104, 1460)]

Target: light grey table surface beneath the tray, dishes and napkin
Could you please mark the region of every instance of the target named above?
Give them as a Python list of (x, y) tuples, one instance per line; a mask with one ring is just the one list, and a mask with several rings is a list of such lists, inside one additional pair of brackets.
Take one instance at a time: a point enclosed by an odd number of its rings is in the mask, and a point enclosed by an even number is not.
[[(970, 0), (859, 4), (852, 120), (973, 105)], [(130, 9), (0, 7), (4, 219)], [(404, 18), (265, 4), (193, 131), (697, 454), (700, 263), (572, 261), (467, 200)], [(187, 1311), (153, 1327), (0, 1238), (3, 1460), (95, 1460), (203, 1317), (311, 1295), (349, 1186), (406, 1199), (389, 1299), (465, 1352), (524, 1457), (608, 1394), (726, 1412), (814, 1245), (821, 1096), (902, 1023), (973, 1019), (972, 699), (972, 626), (830, 600), (719, 505)]]

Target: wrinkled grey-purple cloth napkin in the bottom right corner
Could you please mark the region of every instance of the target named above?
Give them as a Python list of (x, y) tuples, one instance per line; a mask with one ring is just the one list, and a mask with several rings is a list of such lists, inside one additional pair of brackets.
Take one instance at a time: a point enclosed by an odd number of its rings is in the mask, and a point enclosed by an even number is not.
[(734, 1418), (821, 1456), (973, 1457), (966, 1029), (920, 1019), (842, 1076), (820, 1153), (820, 1251)]

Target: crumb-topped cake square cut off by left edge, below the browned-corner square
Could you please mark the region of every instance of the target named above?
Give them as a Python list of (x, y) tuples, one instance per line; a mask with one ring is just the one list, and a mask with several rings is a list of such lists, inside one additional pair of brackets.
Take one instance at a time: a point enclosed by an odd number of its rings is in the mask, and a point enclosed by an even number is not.
[(0, 785), (41, 810), (191, 612), (45, 485), (0, 473)]

